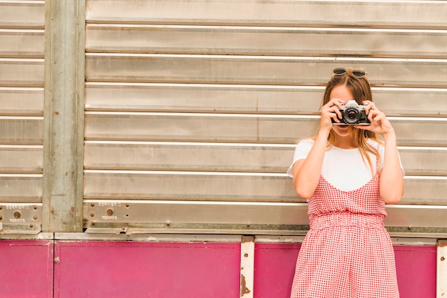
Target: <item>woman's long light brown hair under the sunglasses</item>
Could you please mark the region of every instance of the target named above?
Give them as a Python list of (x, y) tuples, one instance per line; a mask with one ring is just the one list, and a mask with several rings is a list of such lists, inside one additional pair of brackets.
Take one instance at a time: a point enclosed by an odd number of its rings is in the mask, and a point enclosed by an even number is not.
[[(333, 75), (331, 79), (326, 84), (326, 89), (323, 94), (323, 102), (321, 106), (324, 106), (331, 100), (330, 95), (331, 91), (334, 87), (344, 85), (346, 86), (352, 93), (354, 99), (358, 104), (363, 104), (363, 101), (370, 100), (373, 101), (373, 94), (371, 92), (371, 86), (366, 79), (366, 76), (358, 78), (353, 75), (351, 69), (347, 69), (345, 74), (342, 75)], [(356, 129), (353, 126), (349, 126), (349, 129), (352, 129), (354, 132), (355, 142), (360, 150), (361, 157), (365, 162), (365, 159), (368, 161), (369, 167), (371, 171), (373, 171), (373, 165), (371, 163), (371, 159), (368, 155), (368, 152), (376, 155), (376, 158), (380, 160), (380, 155), (376, 148), (368, 144), (368, 139), (373, 139), (374, 141), (378, 141), (376, 133), (373, 131), (368, 131), (364, 129)], [(329, 146), (333, 146), (335, 141), (336, 134), (331, 129), (328, 136)], [(380, 141), (378, 141), (380, 142)], [(366, 164), (366, 162), (365, 162)]]

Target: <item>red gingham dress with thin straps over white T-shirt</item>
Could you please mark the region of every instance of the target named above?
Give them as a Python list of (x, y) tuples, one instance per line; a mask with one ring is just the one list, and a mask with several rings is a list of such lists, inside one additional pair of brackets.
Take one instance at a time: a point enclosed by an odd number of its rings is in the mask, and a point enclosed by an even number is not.
[(320, 176), (308, 216), (310, 229), (298, 254), (291, 298), (399, 297), (378, 171), (350, 192)]

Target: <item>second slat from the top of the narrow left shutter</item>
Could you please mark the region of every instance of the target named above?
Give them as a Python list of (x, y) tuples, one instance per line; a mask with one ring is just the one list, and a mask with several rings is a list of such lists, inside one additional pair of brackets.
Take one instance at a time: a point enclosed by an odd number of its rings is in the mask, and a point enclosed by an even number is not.
[(0, 29), (0, 56), (44, 57), (44, 30)]

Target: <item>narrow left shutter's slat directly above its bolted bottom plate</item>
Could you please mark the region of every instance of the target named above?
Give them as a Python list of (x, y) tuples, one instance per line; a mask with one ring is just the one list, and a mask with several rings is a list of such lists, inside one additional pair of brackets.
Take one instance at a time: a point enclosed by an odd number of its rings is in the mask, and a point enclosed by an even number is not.
[(41, 174), (0, 174), (0, 202), (37, 203), (42, 201)]

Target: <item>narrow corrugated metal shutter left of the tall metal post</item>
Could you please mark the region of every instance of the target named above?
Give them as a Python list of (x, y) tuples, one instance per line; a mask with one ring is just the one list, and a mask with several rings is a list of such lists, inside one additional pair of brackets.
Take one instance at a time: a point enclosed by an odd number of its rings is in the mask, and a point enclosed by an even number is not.
[(44, 1), (0, 2), (0, 234), (41, 231)]

